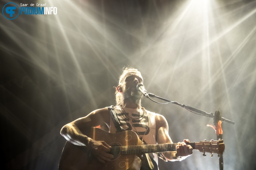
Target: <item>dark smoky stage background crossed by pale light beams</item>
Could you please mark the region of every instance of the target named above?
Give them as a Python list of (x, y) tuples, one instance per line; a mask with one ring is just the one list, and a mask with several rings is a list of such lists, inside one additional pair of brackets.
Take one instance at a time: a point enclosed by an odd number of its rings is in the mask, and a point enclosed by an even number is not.
[[(232, 0), (1, 1), (47, 3), (57, 15), (0, 14), (0, 116), (4, 169), (58, 169), (60, 129), (115, 104), (124, 66), (146, 89), (223, 123), (224, 169), (255, 169), (256, 2)], [(165, 116), (173, 142), (215, 139), (211, 118), (144, 99)], [(198, 151), (159, 169), (218, 169)]]

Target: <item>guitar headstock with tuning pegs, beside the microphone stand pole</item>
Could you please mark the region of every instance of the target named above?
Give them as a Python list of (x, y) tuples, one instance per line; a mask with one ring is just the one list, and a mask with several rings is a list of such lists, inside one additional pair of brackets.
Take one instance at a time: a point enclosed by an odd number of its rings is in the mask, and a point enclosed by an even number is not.
[(203, 152), (203, 156), (205, 152), (211, 153), (211, 157), (213, 153), (223, 154), (225, 150), (225, 144), (223, 140), (219, 141), (201, 141), (195, 144), (195, 149)]

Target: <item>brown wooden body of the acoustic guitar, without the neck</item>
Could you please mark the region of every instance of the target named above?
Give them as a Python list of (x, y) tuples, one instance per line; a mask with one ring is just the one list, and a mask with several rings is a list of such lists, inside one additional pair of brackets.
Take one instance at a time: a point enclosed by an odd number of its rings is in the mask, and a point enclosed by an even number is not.
[[(105, 141), (108, 145), (137, 146), (142, 145), (138, 135), (133, 131), (108, 133), (98, 128), (88, 128), (83, 134), (96, 141)], [(67, 142), (60, 159), (59, 170), (139, 170), (141, 159), (136, 154), (113, 154), (114, 158), (100, 163), (85, 146)]]

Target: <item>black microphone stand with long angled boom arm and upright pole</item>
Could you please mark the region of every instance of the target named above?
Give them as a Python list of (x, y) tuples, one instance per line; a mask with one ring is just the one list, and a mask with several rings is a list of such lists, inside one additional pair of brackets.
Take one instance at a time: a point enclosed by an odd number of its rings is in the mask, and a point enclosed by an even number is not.
[[(156, 96), (152, 93), (148, 93), (146, 90), (145, 90), (146, 94), (148, 94), (149, 97), (152, 97), (152, 98), (157, 98), (157, 99), (160, 99), (160, 100), (163, 100), (163, 101), (166, 101), (168, 103), (172, 103), (172, 104), (175, 104), (175, 105), (179, 105), (181, 106), (182, 108), (192, 112), (192, 113), (195, 113), (197, 115), (201, 115), (201, 116), (206, 116), (206, 117), (209, 117), (209, 118), (214, 118), (214, 126), (215, 126), (215, 129), (217, 127), (217, 124), (219, 121), (222, 121), (222, 122), (227, 122), (227, 123), (230, 123), (232, 125), (235, 125), (235, 122), (233, 121), (230, 121), (228, 119), (225, 119), (225, 118), (222, 118), (221, 117), (221, 113), (219, 111), (216, 111), (215, 114), (213, 114), (212, 112), (211, 113), (206, 113), (202, 110), (199, 110), (199, 109), (195, 109), (195, 108), (192, 108), (190, 106), (186, 106), (184, 104), (179, 104), (178, 102), (174, 102), (174, 101), (170, 101), (170, 100), (167, 100), (167, 99), (164, 99), (164, 98), (161, 98), (159, 96)], [(145, 96), (145, 94), (144, 94)], [(152, 100), (151, 98), (149, 98), (148, 96), (146, 96), (148, 99)], [(154, 101), (154, 100), (152, 100)], [(156, 101), (154, 101), (156, 102)], [(158, 104), (168, 104), (168, 103), (159, 103), (159, 102), (156, 102)], [(217, 135), (216, 133), (216, 136), (217, 136), (217, 140), (222, 140), (222, 134), (219, 134)], [(203, 154), (203, 156), (206, 156), (205, 154)], [(223, 155), (222, 154), (218, 154), (218, 158), (219, 158), (219, 168), (220, 170), (223, 170)]]

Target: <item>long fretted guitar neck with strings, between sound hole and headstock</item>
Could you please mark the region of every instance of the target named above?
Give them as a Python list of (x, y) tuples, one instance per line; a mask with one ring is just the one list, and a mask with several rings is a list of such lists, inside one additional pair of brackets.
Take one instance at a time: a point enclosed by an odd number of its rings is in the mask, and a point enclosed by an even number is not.
[[(195, 149), (197, 143), (189, 143), (188, 145), (192, 146)], [(137, 146), (120, 146), (112, 147), (111, 153), (119, 152), (122, 155), (125, 154), (144, 154), (144, 153), (155, 153), (155, 152), (167, 152), (167, 151), (176, 151), (177, 143), (172, 144), (156, 144), (156, 145), (137, 145)]]

